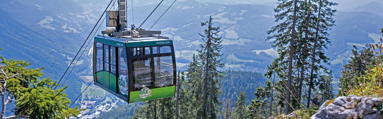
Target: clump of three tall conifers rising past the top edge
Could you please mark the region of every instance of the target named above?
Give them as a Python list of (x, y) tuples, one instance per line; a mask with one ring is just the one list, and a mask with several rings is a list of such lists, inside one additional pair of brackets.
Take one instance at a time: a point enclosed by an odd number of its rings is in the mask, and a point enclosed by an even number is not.
[[(308, 87), (307, 107), (310, 106), (311, 93), (319, 86), (320, 72), (328, 73), (325, 65), (329, 58), (324, 49), (330, 42), (327, 31), (334, 26), (332, 6), (337, 3), (328, 0), (278, 0), (274, 9), (275, 22), (267, 40), (276, 39), (272, 47), (279, 54), (268, 66), (268, 78), (281, 79), (286, 87), (285, 114), (291, 108), (300, 108), (302, 93)], [(306, 82), (306, 83), (305, 83)], [(277, 92), (280, 94), (281, 92)]]

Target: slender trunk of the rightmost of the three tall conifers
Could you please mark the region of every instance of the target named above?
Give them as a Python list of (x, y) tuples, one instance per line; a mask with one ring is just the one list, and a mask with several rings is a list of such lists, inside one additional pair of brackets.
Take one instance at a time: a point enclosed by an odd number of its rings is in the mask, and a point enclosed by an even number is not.
[(310, 83), (309, 83), (309, 91), (307, 96), (307, 107), (310, 107), (310, 99), (311, 99), (311, 88), (313, 88), (313, 73), (314, 73), (314, 63), (315, 63), (315, 55), (316, 55), (316, 43), (318, 40), (318, 32), (319, 32), (319, 19), (321, 18), (321, 7), (322, 7), (322, 0), (319, 1), (319, 11), (318, 11), (318, 19), (316, 23), (316, 33), (315, 33), (315, 41), (314, 41), (314, 49), (313, 49), (313, 56), (311, 57), (311, 72), (310, 72)]

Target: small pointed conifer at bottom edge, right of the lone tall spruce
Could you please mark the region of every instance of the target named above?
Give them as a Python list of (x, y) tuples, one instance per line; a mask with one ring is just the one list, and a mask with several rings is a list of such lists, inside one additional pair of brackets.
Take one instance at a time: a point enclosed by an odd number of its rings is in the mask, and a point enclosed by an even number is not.
[(246, 119), (244, 114), (246, 113), (246, 96), (245, 92), (238, 91), (239, 96), (237, 102), (235, 103), (236, 106), (234, 107), (234, 119)]

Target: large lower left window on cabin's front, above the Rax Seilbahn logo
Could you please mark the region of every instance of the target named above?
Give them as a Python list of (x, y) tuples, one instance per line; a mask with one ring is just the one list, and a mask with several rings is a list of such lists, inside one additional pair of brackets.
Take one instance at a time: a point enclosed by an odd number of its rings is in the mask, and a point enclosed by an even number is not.
[(151, 58), (132, 59), (133, 62), (133, 86), (134, 89), (150, 87), (152, 83), (150, 67)]

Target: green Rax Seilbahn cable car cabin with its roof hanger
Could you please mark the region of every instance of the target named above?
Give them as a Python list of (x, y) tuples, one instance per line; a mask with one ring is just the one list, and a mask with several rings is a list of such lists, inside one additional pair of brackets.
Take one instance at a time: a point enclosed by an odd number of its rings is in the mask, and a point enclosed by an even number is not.
[(125, 3), (119, 0), (118, 11), (106, 11), (112, 28), (94, 37), (94, 84), (128, 103), (174, 96), (173, 41), (161, 31), (127, 28)]

